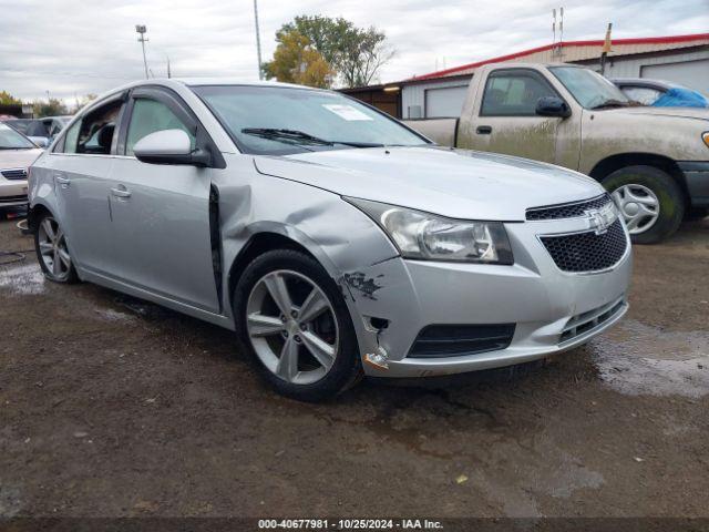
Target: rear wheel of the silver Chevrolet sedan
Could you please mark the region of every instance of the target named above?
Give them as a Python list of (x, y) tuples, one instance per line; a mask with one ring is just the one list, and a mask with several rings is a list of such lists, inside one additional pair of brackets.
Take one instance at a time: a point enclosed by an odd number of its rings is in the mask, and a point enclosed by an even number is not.
[(79, 276), (66, 246), (66, 235), (49, 213), (40, 215), (34, 232), (34, 250), (44, 277), (53, 283), (76, 283)]

